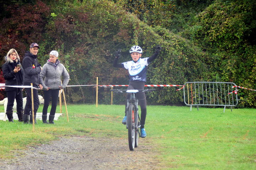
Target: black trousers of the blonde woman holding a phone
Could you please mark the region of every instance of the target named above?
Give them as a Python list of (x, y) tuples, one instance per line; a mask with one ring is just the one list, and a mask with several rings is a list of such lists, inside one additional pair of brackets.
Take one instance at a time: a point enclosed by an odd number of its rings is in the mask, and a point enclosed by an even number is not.
[(23, 96), (22, 96), (22, 90), (11, 90), (6, 91), (8, 102), (6, 107), (6, 112), (11, 111), (12, 107), (14, 106), (14, 100), (16, 99), (17, 103), (17, 112), (21, 112), (23, 110)]

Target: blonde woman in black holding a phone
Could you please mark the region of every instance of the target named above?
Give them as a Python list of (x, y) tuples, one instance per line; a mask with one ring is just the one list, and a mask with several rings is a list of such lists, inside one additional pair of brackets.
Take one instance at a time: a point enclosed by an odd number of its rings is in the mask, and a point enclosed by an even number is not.
[(7, 94), (8, 102), (6, 107), (6, 115), (9, 122), (13, 121), (14, 100), (17, 103), (18, 121), (23, 121), (23, 96), (22, 88), (8, 87), (8, 86), (21, 86), (23, 84), (23, 69), (20, 63), (20, 57), (15, 49), (9, 50), (5, 56), (5, 63), (2, 65), (2, 72), (5, 79), (5, 91)]

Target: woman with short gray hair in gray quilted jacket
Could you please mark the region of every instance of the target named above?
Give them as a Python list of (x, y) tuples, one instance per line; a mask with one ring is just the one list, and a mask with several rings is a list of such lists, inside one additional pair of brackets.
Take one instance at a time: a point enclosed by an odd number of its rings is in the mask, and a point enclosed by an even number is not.
[[(49, 123), (54, 124), (54, 117), (58, 102), (58, 94), (60, 89), (64, 89), (69, 82), (69, 74), (63, 64), (58, 60), (59, 53), (57, 51), (50, 52), (50, 58), (47, 63), (44, 64), (42, 71), (40, 72), (40, 82), (42, 82), (44, 90), (44, 107), (42, 120), (43, 123), (47, 122), (47, 110), (50, 103), (50, 97), (52, 97), (52, 108), (49, 115)], [(63, 83), (61, 83), (61, 77), (63, 77)], [(43, 80), (44, 79), (44, 80)]]

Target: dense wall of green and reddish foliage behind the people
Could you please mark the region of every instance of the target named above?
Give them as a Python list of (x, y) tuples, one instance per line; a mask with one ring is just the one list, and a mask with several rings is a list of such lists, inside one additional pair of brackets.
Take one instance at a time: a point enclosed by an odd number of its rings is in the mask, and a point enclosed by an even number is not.
[[(69, 85), (128, 84), (125, 69), (112, 67), (130, 60), (129, 48), (139, 45), (150, 57), (147, 84), (183, 85), (187, 81), (228, 81), (256, 89), (255, 2), (253, 1), (33, 1), (6, 5), (1, 11), (0, 55), (15, 48), (22, 56), (31, 42), (40, 45), (39, 62), (51, 50), (70, 74)], [(1, 63), (3, 63), (3, 57)], [(2, 83), (2, 82), (0, 82)], [(182, 104), (177, 87), (159, 87), (149, 102)], [(68, 87), (70, 103), (95, 103), (93, 86)], [(124, 102), (115, 95), (114, 103)], [(254, 91), (239, 90), (239, 107), (256, 106)], [(110, 103), (109, 88), (99, 87), (99, 103)]]

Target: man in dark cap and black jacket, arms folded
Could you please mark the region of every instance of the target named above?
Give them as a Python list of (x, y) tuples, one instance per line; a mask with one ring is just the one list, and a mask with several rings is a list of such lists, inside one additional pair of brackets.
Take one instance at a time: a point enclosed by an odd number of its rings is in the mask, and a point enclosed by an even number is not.
[[(30, 86), (31, 83), (33, 83), (33, 87), (40, 89), (43, 88), (43, 86), (40, 83), (40, 77), (39, 74), (42, 70), (41, 64), (37, 61), (37, 53), (38, 53), (39, 45), (37, 43), (32, 43), (30, 45), (30, 51), (26, 51), (23, 61), (22, 61), (22, 67), (23, 67), (23, 85), (24, 86)], [(27, 102), (26, 106), (24, 108), (24, 115), (23, 115), (23, 123), (27, 124), (30, 122), (30, 124), (33, 123), (33, 117), (32, 117), (32, 96), (31, 96), (31, 88), (25, 88), (26, 95), (27, 95)], [(34, 100), (34, 122), (36, 123), (36, 113), (37, 109), (39, 107), (39, 98), (38, 98), (38, 91), (36, 89), (33, 89), (33, 100)]]

